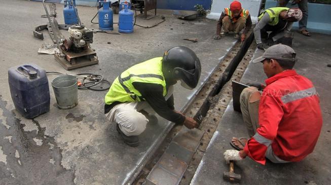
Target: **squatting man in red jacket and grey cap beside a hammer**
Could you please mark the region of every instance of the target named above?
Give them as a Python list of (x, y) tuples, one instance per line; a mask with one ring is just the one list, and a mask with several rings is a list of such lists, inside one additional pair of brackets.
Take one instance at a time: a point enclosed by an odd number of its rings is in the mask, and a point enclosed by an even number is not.
[(301, 161), (313, 152), (322, 127), (316, 88), (292, 69), (296, 53), (287, 45), (273, 45), (253, 60), (260, 62), (268, 77), (262, 95), (256, 87), (247, 87), (240, 95), (250, 139), (233, 137), (240, 151), (227, 150), (225, 159), (249, 156), (261, 164), (266, 158), (273, 163)]

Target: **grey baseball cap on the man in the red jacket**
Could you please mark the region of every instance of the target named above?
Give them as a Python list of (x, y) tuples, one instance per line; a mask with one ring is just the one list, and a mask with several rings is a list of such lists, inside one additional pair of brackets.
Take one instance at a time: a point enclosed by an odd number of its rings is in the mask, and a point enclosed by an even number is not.
[(288, 45), (273, 45), (272, 47), (268, 48), (261, 57), (254, 59), (253, 63), (262, 62), (265, 59), (278, 59), (295, 62), (296, 52)]

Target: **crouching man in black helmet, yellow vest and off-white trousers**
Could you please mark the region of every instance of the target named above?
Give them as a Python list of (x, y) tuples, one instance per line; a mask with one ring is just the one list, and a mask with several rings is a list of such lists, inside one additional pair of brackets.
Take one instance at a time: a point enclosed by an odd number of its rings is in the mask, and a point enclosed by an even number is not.
[(174, 110), (173, 85), (180, 80), (188, 89), (197, 86), (201, 74), (200, 60), (189, 48), (174, 47), (157, 57), (136, 64), (119, 75), (105, 96), (106, 118), (116, 123), (124, 142), (136, 147), (140, 135), (155, 113), (184, 124), (198, 127), (191, 117)]

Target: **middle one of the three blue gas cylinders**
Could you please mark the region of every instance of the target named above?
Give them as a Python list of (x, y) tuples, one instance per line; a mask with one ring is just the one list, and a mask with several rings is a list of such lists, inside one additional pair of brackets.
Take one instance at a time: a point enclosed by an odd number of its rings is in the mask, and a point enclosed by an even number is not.
[(99, 29), (114, 30), (113, 27), (113, 10), (110, 8), (110, 1), (99, 1), (102, 8), (98, 10), (99, 14)]

